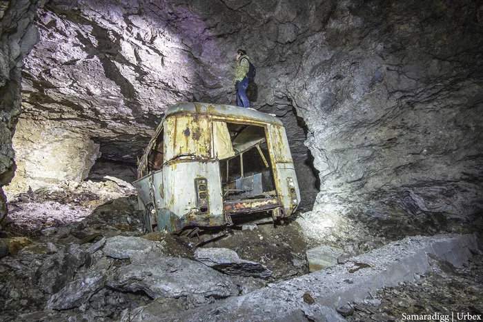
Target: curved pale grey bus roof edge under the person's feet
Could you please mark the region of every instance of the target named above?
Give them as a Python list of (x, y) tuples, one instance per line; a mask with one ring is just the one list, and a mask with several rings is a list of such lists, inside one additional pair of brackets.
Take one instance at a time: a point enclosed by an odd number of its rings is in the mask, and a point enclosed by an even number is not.
[(215, 115), (218, 117), (239, 118), (244, 121), (262, 121), (282, 125), (282, 121), (270, 114), (259, 112), (251, 108), (239, 108), (233, 105), (211, 104), (211, 103), (179, 103), (171, 105), (165, 112), (165, 117), (179, 112), (201, 113)]

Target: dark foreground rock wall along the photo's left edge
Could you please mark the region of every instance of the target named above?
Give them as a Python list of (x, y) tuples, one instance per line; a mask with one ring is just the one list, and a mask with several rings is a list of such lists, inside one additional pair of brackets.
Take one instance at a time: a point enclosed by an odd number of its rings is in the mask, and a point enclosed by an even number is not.
[(38, 40), (32, 23), (43, 0), (0, 1), (0, 229), (7, 212), (1, 187), (15, 169), (12, 135), (20, 112), (23, 58)]

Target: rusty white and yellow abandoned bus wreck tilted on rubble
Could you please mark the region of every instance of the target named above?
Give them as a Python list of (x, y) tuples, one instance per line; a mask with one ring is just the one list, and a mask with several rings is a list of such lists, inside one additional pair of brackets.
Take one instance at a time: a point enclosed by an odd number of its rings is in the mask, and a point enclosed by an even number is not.
[(137, 171), (133, 184), (148, 231), (232, 225), (257, 212), (275, 220), (300, 203), (282, 122), (252, 109), (173, 105)]

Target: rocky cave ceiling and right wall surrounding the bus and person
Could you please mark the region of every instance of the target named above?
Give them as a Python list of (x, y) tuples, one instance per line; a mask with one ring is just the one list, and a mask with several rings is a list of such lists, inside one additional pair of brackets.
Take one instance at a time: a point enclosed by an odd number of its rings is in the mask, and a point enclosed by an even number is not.
[(299, 173), (319, 192), (315, 211), (443, 227), (483, 212), (480, 1), (0, 3), (2, 104), (13, 111), (2, 172), (12, 170), (22, 61), (19, 149), (67, 136), (92, 165), (99, 150), (135, 161), (171, 103), (234, 103), (235, 53), (246, 48), (253, 107), (286, 123), (298, 165), (306, 147), (313, 156)]

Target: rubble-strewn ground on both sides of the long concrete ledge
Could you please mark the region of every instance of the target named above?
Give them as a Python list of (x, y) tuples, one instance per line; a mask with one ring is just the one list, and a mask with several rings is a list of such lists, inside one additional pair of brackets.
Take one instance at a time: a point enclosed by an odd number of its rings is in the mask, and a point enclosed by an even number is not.
[[(0, 321), (141, 321), (146, 305), (159, 314), (198, 308), (308, 273), (305, 252), (321, 240), (301, 229), (313, 214), (277, 225), (257, 218), (190, 236), (145, 234), (135, 190), (108, 174), (91, 179), (11, 199), (1, 233), (10, 254), (0, 259)], [(357, 231), (344, 242), (338, 234), (322, 240), (351, 255), (390, 240), (357, 240)], [(435, 261), (415, 283), (368, 294), (368, 301), (339, 311), (348, 321), (482, 314), (482, 265), (480, 254), (462, 268)]]

